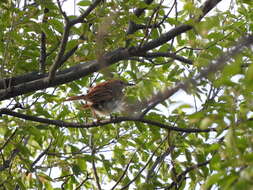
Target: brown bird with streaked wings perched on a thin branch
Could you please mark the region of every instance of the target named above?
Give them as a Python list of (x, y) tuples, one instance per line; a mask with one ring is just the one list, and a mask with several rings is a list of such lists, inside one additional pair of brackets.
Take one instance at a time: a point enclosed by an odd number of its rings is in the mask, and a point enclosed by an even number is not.
[(123, 89), (134, 84), (122, 80), (109, 80), (97, 84), (89, 89), (86, 95), (72, 96), (66, 101), (85, 100), (84, 108), (90, 108), (96, 118), (98, 115), (110, 115), (113, 112), (122, 111)]

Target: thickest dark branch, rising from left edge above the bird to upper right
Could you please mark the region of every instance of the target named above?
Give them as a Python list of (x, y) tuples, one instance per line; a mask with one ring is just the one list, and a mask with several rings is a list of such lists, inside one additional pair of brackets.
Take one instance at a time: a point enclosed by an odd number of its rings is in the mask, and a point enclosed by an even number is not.
[[(209, 1), (210, 0), (208, 0), (207, 2), (209, 2)], [(219, 1), (221, 1), (221, 0), (215, 0), (214, 2), (216, 2), (216, 4), (217, 4)], [(100, 2), (100, 1), (98, 1), (98, 0), (95, 1), (94, 5), (95, 5), (95, 3), (98, 3), (98, 2)], [(208, 3), (206, 3), (206, 4), (209, 5)], [(211, 10), (211, 6), (207, 6), (207, 5), (204, 6), (205, 12), (203, 12), (203, 15), (205, 15), (209, 10)], [(212, 3), (211, 5), (214, 6), (214, 3)], [(207, 8), (205, 8), (205, 7), (207, 7)], [(72, 21), (70, 21), (70, 23), (72, 23)], [(170, 30), (169, 32), (161, 35), (156, 40), (152, 40), (152, 41), (144, 44), (141, 48), (138, 48), (138, 47), (133, 47), (133, 48), (129, 48), (129, 49), (128, 48), (118, 48), (118, 49), (104, 55), (105, 59), (102, 60), (103, 64), (100, 64), (98, 61), (90, 61), (85, 64), (75, 65), (69, 69), (65, 69), (65, 70), (59, 72), (59, 74), (57, 73), (54, 80), (51, 81), (50, 83), (48, 83), (48, 80), (46, 78), (48, 76), (47, 74), (39, 75), (36, 73), (35, 74), (34, 73), (27, 74), (27, 75), (15, 77), (15, 78), (0, 80), (0, 87), (3, 87), (2, 89), (4, 89), (4, 87), (5, 87), (4, 84), (11, 84), (11, 86), (8, 89), (0, 90), (0, 100), (5, 100), (5, 99), (15, 97), (15, 96), (18, 96), (21, 94), (25, 94), (28, 92), (33, 92), (36, 90), (41, 90), (41, 89), (45, 89), (48, 87), (53, 87), (53, 86), (57, 86), (60, 84), (65, 84), (65, 83), (71, 82), (73, 80), (87, 76), (93, 72), (96, 72), (99, 69), (101, 69), (102, 67), (107, 67), (107, 66), (110, 66), (110, 65), (120, 61), (120, 60), (124, 60), (126, 58), (129, 58), (131, 55), (135, 56), (135, 55), (141, 54), (145, 51), (148, 51), (152, 48), (156, 48), (159, 45), (166, 43), (170, 39), (173, 39), (175, 36), (182, 34), (183, 32), (186, 32), (190, 29), (192, 29), (192, 26), (183, 24), (183, 25), (177, 26), (174, 29)], [(59, 65), (61, 65), (61, 64), (63, 64), (62, 60), (59, 62)], [(54, 68), (53, 71), (55, 69), (56, 68)], [(53, 73), (51, 73), (51, 75), (52, 74)], [(17, 79), (21, 79), (21, 80), (19, 81)], [(10, 82), (10, 83), (6, 83), (6, 82)], [(12, 84), (13, 85), (15, 84), (15, 86), (13, 86)]]

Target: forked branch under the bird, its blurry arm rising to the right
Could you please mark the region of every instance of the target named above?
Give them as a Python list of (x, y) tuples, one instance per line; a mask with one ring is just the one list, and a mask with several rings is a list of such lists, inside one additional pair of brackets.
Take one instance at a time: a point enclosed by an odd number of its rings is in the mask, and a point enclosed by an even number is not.
[[(214, 129), (200, 130), (200, 129), (189, 129), (189, 128), (187, 128), (187, 129), (176, 128), (176, 127), (167, 126), (165, 124), (158, 123), (155, 121), (145, 120), (145, 119), (142, 119), (142, 117), (149, 110), (154, 108), (157, 104), (159, 104), (160, 102), (166, 100), (167, 98), (169, 98), (173, 94), (175, 94), (179, 89), (187, 89), (190, 87), (191, 84), (195, 85), (199, 79), (207, 77), (209, 73), (215, 73), (215, 72), (221, 70), (227, 64), (227, 62), (231, 59), (231, 57), (237, 55), (238, 53), (243, 51), (245, 47), (249, 47), (252, 44), (253, 44), (253, 36), (248, 36), (248, 37), (244, 38), (234, 48), (232, 48), (230, 51), (228, 51), (225, 55), (220, 56), (216, 61), (214, 61), (213, 63), (210, 63), (207, 68), (200, 71), (200, 74), (196, 78), (188, 79), (185, 82), (178, 84), (177, 86), (175, 86), (172, 89), (166, 89), (165, 91), (158, 93), (149, 101), (150, 102), (149, 104), (146, 104), (146, 102), (145, 102), (145, 104), (144, 103), (142, 104), (142, 105), (148, 105), (148, 107), (140, 115), (140, 118), (121, 117), (121, 118), (116, 118), (115, 120), (104, 121), (104, 122), (97, 123), (97, 124), (81, 125), (81, 124), (76, 124), (76, 123), (65, 123), (63, 121), (58, 121), (58, 120), (49, 120), (49, 119), (44, 119), (44, 118), (39, 118), (39, 117), (34, 117), (34, 116), (28, 116), (28, 115), (24, 115), (21, 113), (13, 112), (8, 109), (1, 109), (0, 114), (12, 115), (14, 117), (23, 118), (26, 120), (37, 121), (37, 122), (47, 123), (47, 124), (53, 124), (53, 125), (56, 125), (59, 127), (65, 126), (65, 127), (74, 127), (74, 128), (90, 128), (90, 127), (107, 125), (110, 123), (120, 123), (122, 121), (137, 121), (137, 122), (143, 122), (146, 124), (158, 126), (160, 128), (170, 129), (170, 130), (174, 130), (174, 131), (188, 132), (188, 133), (214, 131)], [(110, 57), (111, 61), (116, 61), (117, 58), (118, 58), (117, 56)]]

